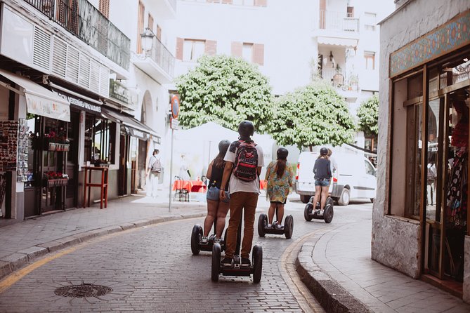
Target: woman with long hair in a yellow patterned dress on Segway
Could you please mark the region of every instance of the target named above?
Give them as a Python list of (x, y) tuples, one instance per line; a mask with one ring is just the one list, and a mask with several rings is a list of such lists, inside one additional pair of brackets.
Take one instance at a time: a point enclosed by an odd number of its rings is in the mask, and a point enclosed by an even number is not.
[[(284, 217), (284, 206), (287, 202), (290, 188), (292, 188), (292, 178), (294, 171), (287, 164), (289, 151), (279, 148), (277, 161), (272, 161), (266, 168), (266, 197), (270, 201), (268, 211), (268, 227), (282, 228), (282, 218)], [(273, 223), (274, 213), (277, 210), (276, 222)]]

